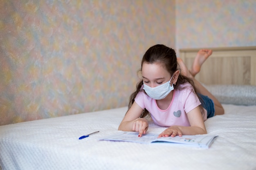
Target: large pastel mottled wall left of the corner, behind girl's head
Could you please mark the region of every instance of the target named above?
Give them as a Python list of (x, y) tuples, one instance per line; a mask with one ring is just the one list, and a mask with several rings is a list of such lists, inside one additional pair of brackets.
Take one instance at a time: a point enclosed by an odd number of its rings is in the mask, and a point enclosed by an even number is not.
[(1, 0), (0, 125), (127, 106), (175, 0)]

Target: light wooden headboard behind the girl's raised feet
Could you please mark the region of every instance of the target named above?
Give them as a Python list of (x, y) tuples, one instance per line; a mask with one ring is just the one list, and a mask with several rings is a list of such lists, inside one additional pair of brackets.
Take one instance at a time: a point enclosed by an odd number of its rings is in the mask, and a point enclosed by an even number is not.
[[(211, 48), (196, 79), (209, 84), (256, 85), (256, 46)], [(199, 49), (180, 49), (180, 57), (191, 67)]]

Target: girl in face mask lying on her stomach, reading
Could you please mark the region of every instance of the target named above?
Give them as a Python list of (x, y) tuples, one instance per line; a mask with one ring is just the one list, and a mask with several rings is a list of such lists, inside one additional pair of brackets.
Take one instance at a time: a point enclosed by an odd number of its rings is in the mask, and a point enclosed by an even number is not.
[(206, 134), (204, 121), (224, 114), (220, 102), (194, 78), (211, 53), (200, 50), (189, 71), (173, 49), (160, 44), (150, 47), (141, 61), (142, 80), (130, 96), (118, 130), (136, 131), (141, 137), (148, 130), (145, 117), (150, 114), (155, 124), (168, 127), (158, 137)]

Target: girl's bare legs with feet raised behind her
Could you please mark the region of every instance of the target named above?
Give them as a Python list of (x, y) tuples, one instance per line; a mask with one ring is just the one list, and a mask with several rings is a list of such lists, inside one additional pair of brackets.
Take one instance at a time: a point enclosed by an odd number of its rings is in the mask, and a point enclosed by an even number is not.
[[(181, 69), (181, 73), (182, 75), (185, 75), (186, 77), (189, 77), (191, 79), (193, 79), (194, 84), (195, 84), (195, 88), (197, 88), (197, 90), (205, 96), (208, 96), (210, 99), (213, 100), (214, 103), (214, 108), (215, 108), (215, 115), (223, 115), (224, 114), (224, 108), (222, 107), (222, 105), (220, 104), (220, 102), (218, 101), (218, 99), (216, 99), (216, 97), (214, 97), (200, 82), (198, 82), (198, 80), (195, 79), (195, 75), (200, 71), (200, 68), (203, 64), (203, 62), (211, 55), (212, 51), (210, 50), (200, 50), (197, 54), (197, 56), (195, 57), (195, 60), (193, 62), (193, 66), (190, 69), (190, 71), (188, 70), (188, 68), (186, 67), (186, 65), (184, 64), (184, 62), (182, 61), (182, 59), (177, 58), (177, 61), (180, 65), (180, 69)], [(196, 69), (194, 69), (196, 68)], [(198, 69), (199, 68), (199, 69)], [(191, 71), (193, 72), (193, 74), (191, 73)]]

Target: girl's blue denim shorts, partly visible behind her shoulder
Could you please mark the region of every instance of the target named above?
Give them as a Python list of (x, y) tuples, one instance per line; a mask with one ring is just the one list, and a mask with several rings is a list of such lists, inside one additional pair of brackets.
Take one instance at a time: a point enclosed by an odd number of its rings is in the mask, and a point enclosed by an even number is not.
[(213, 117), (215, 115), (214, 103), (213, 100), (210, 99), (208, 96), (202, 95), (198, 93), (198, 96), (203, 108), (207, 110), (207, 119)]

